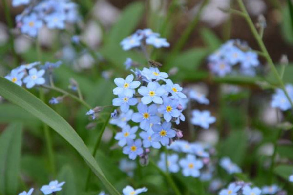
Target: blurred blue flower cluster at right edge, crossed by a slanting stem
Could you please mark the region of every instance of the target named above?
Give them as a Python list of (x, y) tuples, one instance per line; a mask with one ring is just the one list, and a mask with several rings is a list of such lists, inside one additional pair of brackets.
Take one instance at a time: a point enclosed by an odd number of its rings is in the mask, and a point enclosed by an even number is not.
[[(285, 88), (291, 101), (293, 101), (293, 85), (287, 84)], [(275, 93), (272, 95), (271, 106), (283, 111), (291, 109), (291, 104), (282, 89), (276, 89)]]

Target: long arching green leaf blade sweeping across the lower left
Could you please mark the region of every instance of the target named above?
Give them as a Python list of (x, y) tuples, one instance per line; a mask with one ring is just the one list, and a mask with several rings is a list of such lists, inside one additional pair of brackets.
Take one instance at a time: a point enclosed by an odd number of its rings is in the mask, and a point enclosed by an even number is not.
[(79, 137), (75, 130), (60, 115), (25, 89), (2, 77), (0, 77), (0, 95), (38, 117), (60, 134), (80, 153), (110, 194), (119, 195), (117, 190), (105, 178), (102, 169), (91, 155), (81, 137)]

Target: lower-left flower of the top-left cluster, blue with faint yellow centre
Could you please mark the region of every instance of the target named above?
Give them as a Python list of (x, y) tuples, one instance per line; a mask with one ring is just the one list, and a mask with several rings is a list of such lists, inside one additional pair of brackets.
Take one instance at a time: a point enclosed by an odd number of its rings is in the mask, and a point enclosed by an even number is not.
[(28, 34), (31, 37), (36, 37), (42, 25), (42, 20), (40, 20), (35, 13), (32, 13), (23, 17), (21, 32)]

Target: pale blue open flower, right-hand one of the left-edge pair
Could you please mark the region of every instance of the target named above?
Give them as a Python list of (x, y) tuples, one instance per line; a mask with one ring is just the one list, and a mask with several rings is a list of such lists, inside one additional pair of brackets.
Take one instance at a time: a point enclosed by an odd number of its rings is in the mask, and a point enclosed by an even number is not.
[(23, 79), (23, 82), (26, 83), (28, 89), (35, 85), (42, 85), (45, 83), (45, 79), (42, 78), (44, 74), (44, 70), (37, 71), (37, 69), (32, 68), (28, 71), (28, 76)]

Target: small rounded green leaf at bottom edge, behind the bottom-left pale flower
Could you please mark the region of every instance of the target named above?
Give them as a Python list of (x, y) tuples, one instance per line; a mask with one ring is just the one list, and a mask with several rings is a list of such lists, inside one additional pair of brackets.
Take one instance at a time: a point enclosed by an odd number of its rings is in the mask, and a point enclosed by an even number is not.
[(59, 195), (77, 195), (74, 173), (69, 165), (65, 165), (61, 169), (57, 178), (59, 182), (66, 182), (62, 187), (62, 191), (58, 193)]

